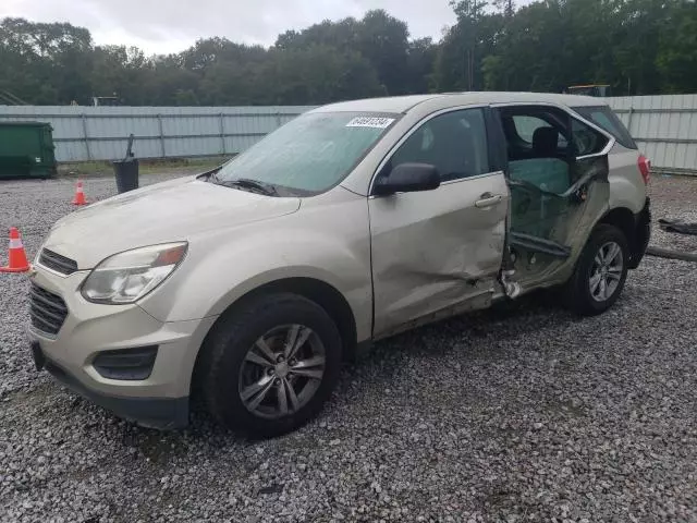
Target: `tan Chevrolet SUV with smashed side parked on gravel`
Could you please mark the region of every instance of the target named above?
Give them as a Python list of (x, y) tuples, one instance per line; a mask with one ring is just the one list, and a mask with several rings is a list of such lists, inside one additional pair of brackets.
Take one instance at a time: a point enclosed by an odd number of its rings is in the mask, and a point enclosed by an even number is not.
[(560, 287), (597, 314), (649, 235), (648, 161), (598, 98), (469, 93), (309, 111), (210, 172), (61, 219), (35, 260), (39, 368), (172, 428), (311, 418), (342, 356)]

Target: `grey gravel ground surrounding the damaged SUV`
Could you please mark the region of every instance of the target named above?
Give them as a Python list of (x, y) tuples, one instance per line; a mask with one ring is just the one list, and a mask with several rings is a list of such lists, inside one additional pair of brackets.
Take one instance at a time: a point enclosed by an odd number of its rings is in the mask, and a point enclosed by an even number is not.
[[(0, 183), (0, 230), (33, 256), (73, 183)], [(697, 180), (652, 196), (697, 221)], [(379, 343), (318, 419), (255, 442), (205, 415), (142, 429), (37, 374), (26, 278), (0, 275), (0, 520), (697, 521), (696, 287), (694, 265), (646, 258), (601, 317), (530, 302)]]

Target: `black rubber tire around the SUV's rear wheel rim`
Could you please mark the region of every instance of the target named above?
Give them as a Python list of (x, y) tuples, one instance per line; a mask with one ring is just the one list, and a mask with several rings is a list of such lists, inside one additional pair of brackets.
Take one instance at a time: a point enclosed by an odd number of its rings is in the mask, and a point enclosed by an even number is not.
[[(622, 272), (616, 288), (612, 294), (604, 299), (594, 297), (590, 290), (590, 277), (595, 265), (595, 258), (600, 248), (608, 243), (615, 243), (622, 252)], [(617, 301), (624, 282), (627, 278), (627, 264), (629, 260), (629, 246), (627, 239), (620, 229), (609, 224), (600, 224), (591, 233), (586, 246), (578, 257), (574, 275), (566, 282), (564, 293), (567, 306), (583, 316), (596, 316), (604, 313)]]

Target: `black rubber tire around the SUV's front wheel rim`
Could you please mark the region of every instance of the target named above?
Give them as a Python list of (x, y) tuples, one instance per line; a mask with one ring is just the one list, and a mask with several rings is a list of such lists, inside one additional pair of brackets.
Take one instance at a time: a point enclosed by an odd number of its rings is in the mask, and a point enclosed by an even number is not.
[[(247, 352), (270, 330), (285, 325), (311, 329), (325, 346), (325, 370), (311, 399), (283, 417), (267, 418), (247, 410), (240, 389)], [(221, 424), (253, 437), (273, 437), (294, 430), (321, 410), (331, 396), (341, 368), (342, 340), (327, 312), (290, 293), (261, 295), (234, 307), (215, 326), (201, 349), (199, 384), (207, 410)]]

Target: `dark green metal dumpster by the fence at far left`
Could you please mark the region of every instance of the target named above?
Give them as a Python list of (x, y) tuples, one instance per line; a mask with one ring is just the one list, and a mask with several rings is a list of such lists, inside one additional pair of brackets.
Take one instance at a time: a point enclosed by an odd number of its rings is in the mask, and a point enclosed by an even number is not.
[(0, 179), (54, 175), (52, 131), (47, 122), (0, 121)]

